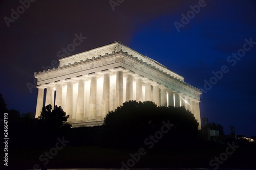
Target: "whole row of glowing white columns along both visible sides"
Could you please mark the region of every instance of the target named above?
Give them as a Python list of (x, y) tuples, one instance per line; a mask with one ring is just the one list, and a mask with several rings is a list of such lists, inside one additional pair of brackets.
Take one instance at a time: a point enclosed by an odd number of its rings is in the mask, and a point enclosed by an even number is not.
[[(102, 118), (110, 111), (110, 71), (103, 71), (103, 93), (102, 96), (97, 96), (97, 74), (89, 75), (87, 78), (90, 79), (90, 97), (89, 97), (89, 113), (88, 119), (96, 119), (96, 108), (101, 105)], [(136, 101), (143, 101), (143, 90), (142, 85), (144, 82), (145, 101), (153, 101), (157, 106), (184, 106), (186, 109), (193, 112), (196, 118), (200, 118), (199, 101), (192, 100), (188, 96), (181, 94), (178, 91), (173, 91), (166, 86), (159, 83), (153, 82), (149, 79), (145, 79), (142, 76), (135, 75), (133, 72), (126, 72), (126, 89), (125, 89), (125, 101), (134, 100), (134, 89), (133, 82), (134, 78), (136, 80)], [(74, 80), (66, 80), (65, 82), (57, 82), (54, 84), (49, 84), (45, 86), (38, 87), (38, 97), (36, 106), (36, 117), (40, 115), (41, 108), (44, 102), (44, 88), (47, 88), (46, 102), (45, 105), (54, 105), (54, 87), (56, 87), (56, 98), (55, 105), (62, 106), (62, 86), (67, 84), (66, 92), (66, 104), (65, 111), (70, 115), (72, 120), (83, 120), (84, 119), (84, 81), (85, 77), (76, 78), (78, 81), (78, 94), (76, 103), (76, 113), (73, 114), (73, 82)], [(153, 86), (153, 96), (152, 96), (152, 86)], [(115, 88), (115, 108), (123, 104), (123, 70), (116, 70), (116, 88)], [(97, 99), (102, 97), (102, 102), (97, 102)]]

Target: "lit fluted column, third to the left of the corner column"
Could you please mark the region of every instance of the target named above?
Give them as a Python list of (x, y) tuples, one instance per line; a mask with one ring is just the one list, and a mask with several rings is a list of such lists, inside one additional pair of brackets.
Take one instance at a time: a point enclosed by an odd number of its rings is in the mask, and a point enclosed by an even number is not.
[(76, 120), (82, 120), (84, 114), (84, 78), (78, 79), (78, 93), (76, 105)]

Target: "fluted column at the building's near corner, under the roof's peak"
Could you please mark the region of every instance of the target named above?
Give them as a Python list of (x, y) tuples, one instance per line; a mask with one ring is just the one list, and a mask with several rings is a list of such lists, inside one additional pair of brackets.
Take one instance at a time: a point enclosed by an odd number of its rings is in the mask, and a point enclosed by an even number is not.
[(123, 104), (123, 71), (116, 71), (116, 108)]

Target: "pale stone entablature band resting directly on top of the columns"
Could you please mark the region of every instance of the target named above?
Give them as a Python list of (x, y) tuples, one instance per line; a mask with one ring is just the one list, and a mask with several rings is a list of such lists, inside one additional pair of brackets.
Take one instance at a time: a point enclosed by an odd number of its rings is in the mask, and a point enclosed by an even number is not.
[(164, 81), (167, 84), (173, 85), (176, 89), (181, 89), (198, 97), (202, 93), (198, 88), (191, 86), (177, 79), (175, 76), (167, 74), (167, 72), (164, 72), (159, 68), (156, 68), (156, 66), (148, 64), (143, 60), (139, 60), (138, 57), (129, 55), (127, 52), (123, 52), (122, 50), (119, 52), (113, 52), (111, 54), (105, 54), (104, 56), (99, 55), (98, 57), (92, 57), (91, 59), (86, 59), (84, 61), (81, 60), (79, 62), (74, 62), (73, 64), (69, 63), (68, 65), (48, 69), (47, 71), (42, 71), (38, 73), (35, 72), (35, 77), (38, 79), (38, 82), (46, 81), (53, 78), (65, 75), (72, 75), (77, 72), (86, 71), (93, 68), (115, 63), (123, 63), (129, 65), (130, 67), (136, 67), (136, 69), (139, 69), (142, 72), (145, 71), (144, 69), (147, 69), (148, 71), (146, 72), (151, 72), (151, 74), (153, 74), (153, 72), (156, 73), (155, 75), (157, 75), (158, 78), (164, 79)]

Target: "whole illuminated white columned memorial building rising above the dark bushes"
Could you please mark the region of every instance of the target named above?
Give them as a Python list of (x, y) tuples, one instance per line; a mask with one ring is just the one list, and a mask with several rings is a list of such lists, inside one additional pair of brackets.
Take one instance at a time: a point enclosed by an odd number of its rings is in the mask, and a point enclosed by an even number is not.
[[(59, 59), (57, 68), (35, 72), (38, 117), (45, 105), (61, 106), (73, 127), (100, 126), (125, 101), (184, 106), (199, 122), (201, 91), (159, 62), (116, 41)], [(45, 95), (46, 94), (46, 95)]]

